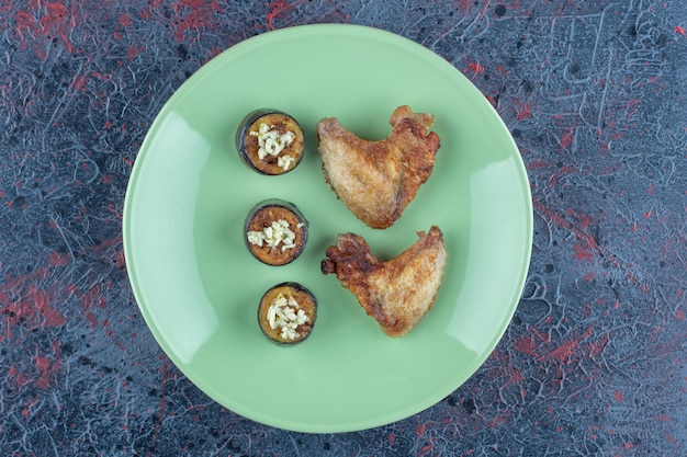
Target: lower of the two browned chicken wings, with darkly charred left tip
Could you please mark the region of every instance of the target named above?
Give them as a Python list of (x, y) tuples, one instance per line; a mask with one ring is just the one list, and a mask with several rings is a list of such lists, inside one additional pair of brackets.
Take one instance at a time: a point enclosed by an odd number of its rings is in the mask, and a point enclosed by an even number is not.
[(417, 325), (437, 298), (447, 252), (441, 230), (428, 233), (398, 256), (384, 262), (375, 258), (365, 240), (339, 235), (322, 261), (324, 274), (336, 274), (360, 305), (390, 336), (403, 336)]

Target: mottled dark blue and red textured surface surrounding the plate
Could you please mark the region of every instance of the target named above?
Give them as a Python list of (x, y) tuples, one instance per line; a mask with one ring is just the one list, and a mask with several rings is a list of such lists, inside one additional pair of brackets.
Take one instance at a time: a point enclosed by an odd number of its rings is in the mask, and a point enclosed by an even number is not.
[[(373, 25), (463, 71), (527, 165), (532, 262), (511, 325), (435, 407), (288, 433), (164, 355), (122, 206), (156, 114), (222, 50)], [(0, 0), (0, 455), (687, 455), (687, 3)]]

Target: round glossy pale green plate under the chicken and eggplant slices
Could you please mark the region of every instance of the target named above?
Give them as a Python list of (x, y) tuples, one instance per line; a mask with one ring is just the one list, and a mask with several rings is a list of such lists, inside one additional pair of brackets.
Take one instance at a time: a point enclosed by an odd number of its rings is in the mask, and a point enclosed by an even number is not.
[[(336, 116), (368, 139), (388, 135), (393, 110), (436, 116), (433, 174), (386, 230), (360, 222), (325, 183), (315, 125)], [(245, 167), (234, 146), (248, 112), (274, 107), (302, 124), (306, 151), (281, 176)], [(354, 164), (351, 164), (354, 165)], [(250, 256), (246, 213), (264, 198), (309, 220), (303, 254), (285, 266)], [(438, 225), (449, 264), (433, 309), (391, 339), (319, 263), (336, 235), (363, 236), (392, 258)], [(415, 414), (485, 361), (517, 307), (532, 237), (527, 174), (507, 128), (449, 62), (397, 35), (307, 25), (247, 39), (214, 58), (167, 102), (148, 133), (124, 202), (124, 249), (140, 311), (160, 346), (232, 411), (300, 432), (347, 432)], [(295, 281), (319, 302), (305, 342), (260, 332), (258, 301)]]

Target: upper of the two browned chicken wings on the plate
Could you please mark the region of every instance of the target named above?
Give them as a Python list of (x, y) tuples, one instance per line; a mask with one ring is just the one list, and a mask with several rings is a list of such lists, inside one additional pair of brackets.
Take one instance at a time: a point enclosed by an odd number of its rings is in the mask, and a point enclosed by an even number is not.
[(369, 227), (391, 227), (415, 198), (435, 167), (439, 136), (429, 133), (431, 114), (398, 106), (391, 135), (380, 141), (358, 138), (334, 118), (317, 123), (317, 148), (325, 180), (346, 206)]

